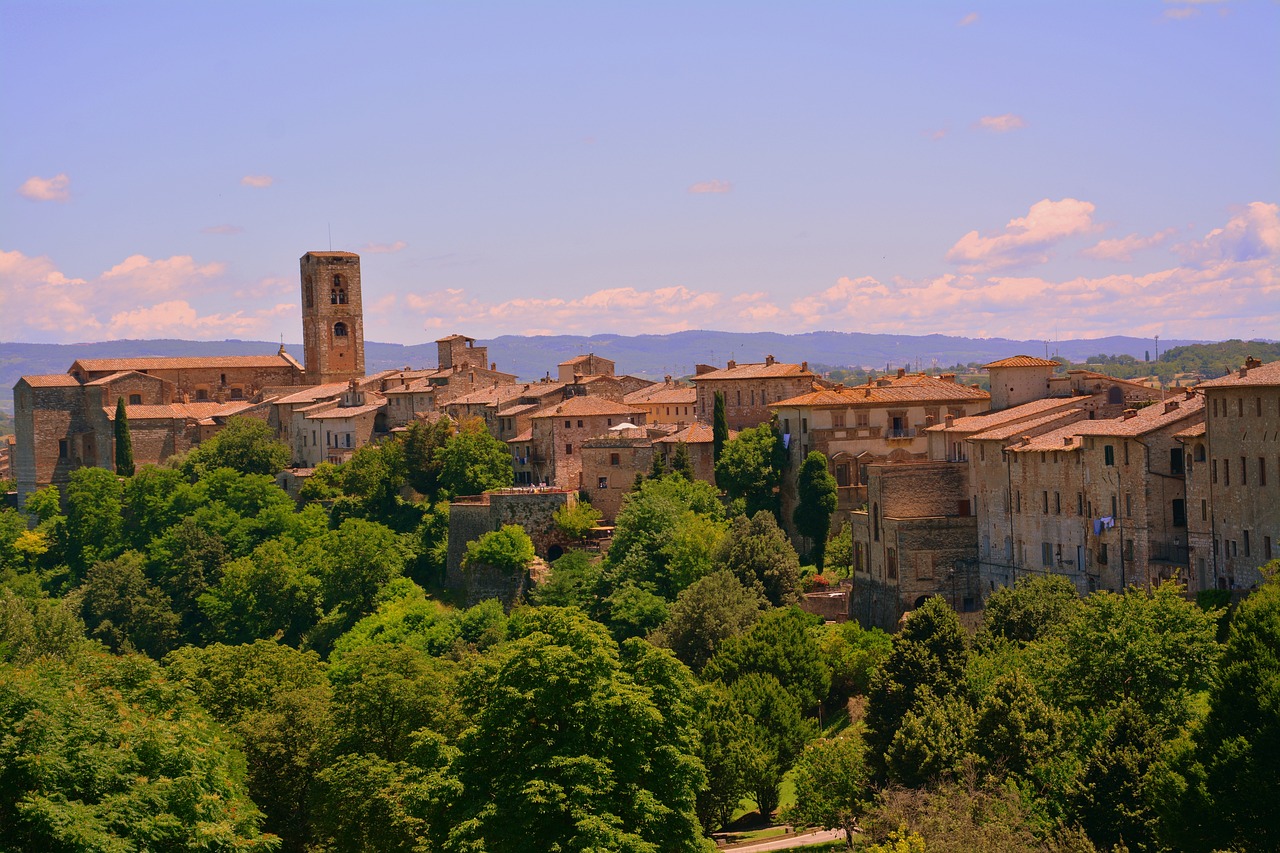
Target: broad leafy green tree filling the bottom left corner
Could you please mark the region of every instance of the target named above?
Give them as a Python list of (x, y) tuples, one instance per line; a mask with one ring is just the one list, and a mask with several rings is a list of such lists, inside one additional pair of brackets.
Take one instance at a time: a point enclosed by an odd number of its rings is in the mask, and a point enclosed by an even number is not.
[(0, 685), (5, 849), (275, 849), (221, 729), (147, 658), (5, 663)]

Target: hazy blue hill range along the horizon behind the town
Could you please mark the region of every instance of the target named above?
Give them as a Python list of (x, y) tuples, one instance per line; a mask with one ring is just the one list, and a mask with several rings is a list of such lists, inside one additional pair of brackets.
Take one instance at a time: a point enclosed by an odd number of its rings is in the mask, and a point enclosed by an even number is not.
[[(861, 332), (677, 332), (675, 334), (595, 334), (584, 336), (502, 336), (480, 341), (489, 347), (490, 360), (500, 370), (522, 379), (554, 375), (556, 365), (585, 352), (612, 359), (620, 373), (660, 379), (663, 375), (685, 375), (696, 364), (723, 365), (727, 360), (763, 361), (772, 355), (780, 361), (809, 361), (827, 368), (915, 368), (950, 366), (995, 361), (1010, 355), (1043, 356), (1044, 341), (1012, 341), (1009, 338), (960, 338), (945, 334), (865, 334)], [(1203, 341), (1161, 341), (1161, 350), (1204, 343)], [(123, 356), (191, 356), (191, 355), (256, 355), (275, 352), (279, 343), (270, 341), (106, 341), (101, 343), (0, 343), (0, 388), (12, 389), (27, 374), (65, 373), (76, 359)], [(285, 348), (300, 361), (302, 345), (287, 343)], [(1083, 341), (1057, 341), (1048, 346), (1050, 355), (1061, 355), (1080, 362), (1098, 353), (1130, 355), (1139, 361), (1155, 345), (1147, 338), (1110, 337)], [(365, 345), (365, 366), (370, 373), (388, 368), (422, 368), (435, 365), (435, 343), (403, 346), (399, 343)], [(0, 409), (13, 410), (13, 397), (4, 392)]]

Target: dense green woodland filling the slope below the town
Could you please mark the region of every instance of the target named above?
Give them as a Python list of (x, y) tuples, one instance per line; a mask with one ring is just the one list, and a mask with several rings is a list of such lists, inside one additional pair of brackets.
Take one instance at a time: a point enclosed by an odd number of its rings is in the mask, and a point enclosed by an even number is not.
[[(1280, 849), (1280, 562), (1234, 602), (1048, 576), (977, 633), (823, 624), (850, 534), (778, 443), (724, 441), (724, 493), (655, 464), (604, 555), (562, 512), (584, 547), (509, 611), (442, 585), (449, 497), (511, 483), (480, 423), (298, 500), (247, 419), (74, 471), (0, 511), (0, 850), (675, 853), (774, 809), (876, 853)], [(503, 528), (465, 566), (532, 558)]]

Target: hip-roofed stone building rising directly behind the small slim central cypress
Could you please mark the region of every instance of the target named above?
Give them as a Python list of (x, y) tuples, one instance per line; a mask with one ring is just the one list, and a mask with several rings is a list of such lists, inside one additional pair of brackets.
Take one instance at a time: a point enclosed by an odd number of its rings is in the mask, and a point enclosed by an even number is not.
[(712, 423), (716, 394), (724, 394), (724, 416), (731, 429), (759, 426), (769, 421), (778, 402), (799, 397), (827, 383), (809, 370), (809, 362), (783, 364), (773, 356), (763, 362), (730, 361), (723, 369), (700, 364), (692, 377), (698, 388), (695, 418)]

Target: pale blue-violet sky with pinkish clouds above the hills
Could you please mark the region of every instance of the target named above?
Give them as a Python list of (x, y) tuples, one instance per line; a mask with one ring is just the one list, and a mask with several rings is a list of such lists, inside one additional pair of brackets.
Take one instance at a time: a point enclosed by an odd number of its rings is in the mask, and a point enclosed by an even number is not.
[(0, 0), (0, 341), (1280, 338), (1280, 3)]

